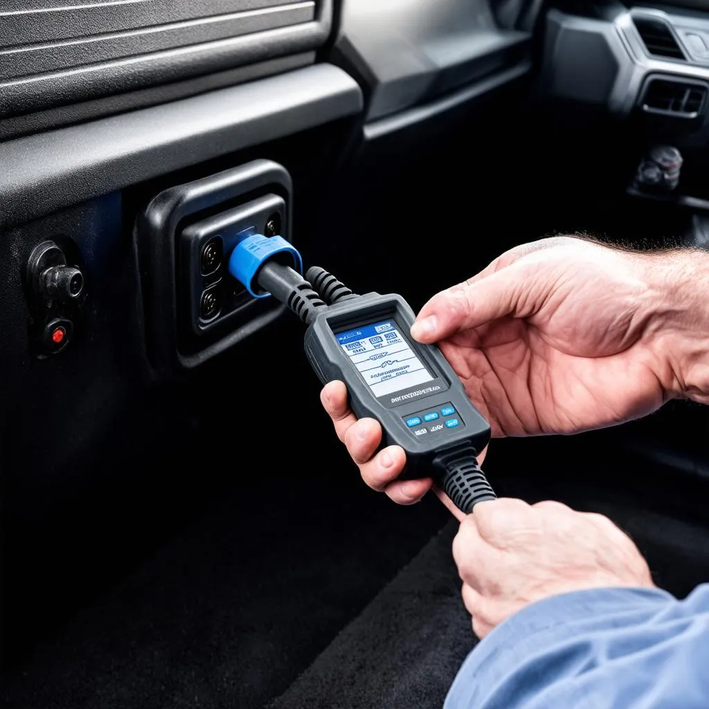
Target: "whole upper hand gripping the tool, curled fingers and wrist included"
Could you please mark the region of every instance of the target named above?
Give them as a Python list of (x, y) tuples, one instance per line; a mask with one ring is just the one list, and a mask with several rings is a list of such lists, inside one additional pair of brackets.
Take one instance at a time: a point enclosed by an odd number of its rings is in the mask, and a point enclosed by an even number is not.
[[(411, 334), (437, 342), (493, 435), (574, 433), (621, 423), (668, 398), (709, 403), (709, 261), (560, 237), (525, 244), (423, 307)], [(430, 480), (396, 481), (401, 448), (323, 389), (340, 440), (374, 489), (418, 501)]]

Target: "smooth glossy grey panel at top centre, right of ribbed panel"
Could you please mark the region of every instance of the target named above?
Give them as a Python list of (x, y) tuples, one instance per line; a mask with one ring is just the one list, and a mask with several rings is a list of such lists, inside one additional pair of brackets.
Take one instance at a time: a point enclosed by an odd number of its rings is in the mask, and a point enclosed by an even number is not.
[(345, 2), (336, 50), (369, 88), (368, 121), (425, 104), (530, 56), (530, 35), (498, 27), (489, 0)]

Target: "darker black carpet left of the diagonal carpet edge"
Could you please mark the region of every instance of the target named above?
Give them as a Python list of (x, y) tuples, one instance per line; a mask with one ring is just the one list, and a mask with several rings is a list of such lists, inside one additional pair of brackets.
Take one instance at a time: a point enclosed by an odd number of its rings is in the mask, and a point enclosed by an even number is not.
[(449, 519), (346, 469), (335, 490), (241, 487), (8, 672), (3, 705), (255, 709), (284, 692)]

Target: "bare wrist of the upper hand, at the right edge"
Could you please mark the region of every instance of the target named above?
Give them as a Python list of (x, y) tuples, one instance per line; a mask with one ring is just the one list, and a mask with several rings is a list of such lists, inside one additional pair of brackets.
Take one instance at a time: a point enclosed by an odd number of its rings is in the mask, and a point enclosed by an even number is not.
[(709, 253), (674, 250), (645, 257), (649, 347), (668, 398), (709, 403)]

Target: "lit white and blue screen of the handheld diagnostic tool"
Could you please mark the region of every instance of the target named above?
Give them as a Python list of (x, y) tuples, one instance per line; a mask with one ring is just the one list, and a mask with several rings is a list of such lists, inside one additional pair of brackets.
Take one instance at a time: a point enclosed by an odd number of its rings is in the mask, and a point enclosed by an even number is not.
[(362, 325), (335, 337), (374, 396), (385, 396), (433, 379), (393, 320)]

